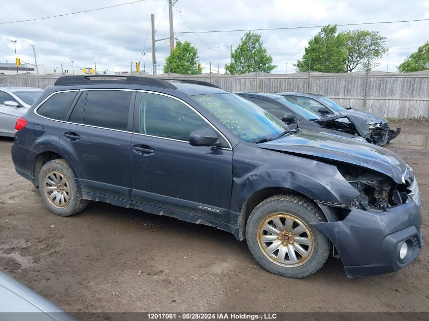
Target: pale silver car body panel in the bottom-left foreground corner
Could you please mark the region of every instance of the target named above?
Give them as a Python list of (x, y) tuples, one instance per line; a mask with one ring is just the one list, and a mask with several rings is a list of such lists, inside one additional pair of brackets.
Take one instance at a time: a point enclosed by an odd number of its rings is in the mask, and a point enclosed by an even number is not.
[(76, 321), (70, 314), (0, 271), (2, 320)]

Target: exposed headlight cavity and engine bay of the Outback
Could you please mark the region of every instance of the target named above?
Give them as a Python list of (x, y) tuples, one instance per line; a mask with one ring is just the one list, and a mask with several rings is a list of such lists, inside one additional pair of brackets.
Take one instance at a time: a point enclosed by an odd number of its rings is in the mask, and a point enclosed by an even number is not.
[(405, 183), (397, 184), (390, 177), (376, 171), (354, 166), (338, 165), (340, 173), (360, 195), (350, 203), (349, 208), (371, 211), (385, 211), (398, 206), (412, 196), (414, 173), (407, 170)]

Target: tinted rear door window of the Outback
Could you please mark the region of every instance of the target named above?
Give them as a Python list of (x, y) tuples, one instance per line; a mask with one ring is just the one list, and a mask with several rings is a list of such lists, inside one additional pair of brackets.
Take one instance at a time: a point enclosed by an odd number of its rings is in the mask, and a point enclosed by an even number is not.
[[(109, 129), (127, 130), (132, 96), (133, 91), (88, 91), (83, 113), (83, 124)], [(72, 114), (72, 116), (74, 115)]]

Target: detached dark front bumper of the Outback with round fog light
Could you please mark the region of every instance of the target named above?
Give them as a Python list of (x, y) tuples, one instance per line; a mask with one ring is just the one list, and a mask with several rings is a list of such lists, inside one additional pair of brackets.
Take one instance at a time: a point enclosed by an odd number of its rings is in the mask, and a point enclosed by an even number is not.
[[(341, 256), (348, 277), (398, 271), (421, 251), (420, 199), (386, 211), (352, 209), (343, 221), (312, 223), (331, 240)], [(401, 259), (401, 246), (407, 255)]]

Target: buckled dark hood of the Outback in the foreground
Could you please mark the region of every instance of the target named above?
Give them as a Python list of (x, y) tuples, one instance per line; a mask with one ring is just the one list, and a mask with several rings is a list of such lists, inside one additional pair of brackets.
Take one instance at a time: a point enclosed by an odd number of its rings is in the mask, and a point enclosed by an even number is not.
[(366, 167), (403, 183), (407, 164), (397, 154), (367, 142), (301, 129), (279, 139), (258, 144), (260, 148), (294, 155), (313, 156)]

